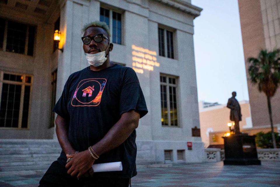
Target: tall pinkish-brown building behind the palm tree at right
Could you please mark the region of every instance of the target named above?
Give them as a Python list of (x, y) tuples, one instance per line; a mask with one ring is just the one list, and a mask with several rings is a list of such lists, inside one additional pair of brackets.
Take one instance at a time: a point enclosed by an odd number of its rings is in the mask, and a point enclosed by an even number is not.
[[(267, 98), (250, 82), (247, 58), (280, 48), (280, 0), (238, 0), (253, 127), (270, 125)], [(272, 119), (280, 124), (280, 89), (271, 98)]]

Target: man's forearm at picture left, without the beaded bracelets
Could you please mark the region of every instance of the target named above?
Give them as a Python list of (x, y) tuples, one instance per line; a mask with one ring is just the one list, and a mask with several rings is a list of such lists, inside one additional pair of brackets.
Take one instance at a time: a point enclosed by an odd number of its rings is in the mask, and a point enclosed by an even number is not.
[(58, 142), (65, 154), (75, 153), (75, 149), (71, 146), (68, 140), (68, 128), (66, 125), (66, 120), (60, 115), (57, 115), (55, 119), (56, 124), (56, 135)]

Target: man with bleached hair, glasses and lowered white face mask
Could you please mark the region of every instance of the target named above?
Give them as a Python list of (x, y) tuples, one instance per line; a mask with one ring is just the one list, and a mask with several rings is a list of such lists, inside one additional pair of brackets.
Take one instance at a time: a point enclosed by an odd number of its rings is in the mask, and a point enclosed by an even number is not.
[[(110, 61), (106, 23), (92, 22), (83, 31), (90, 66), (69, 76), (53, 109), (62, 153), (40, 186), (127, 187), (137, 174), (135, 129), (148, 112), (145, 99), (134, 70)], [(122, 162), (122, 171), (92, 171), (93, 163), (107, 162)]]

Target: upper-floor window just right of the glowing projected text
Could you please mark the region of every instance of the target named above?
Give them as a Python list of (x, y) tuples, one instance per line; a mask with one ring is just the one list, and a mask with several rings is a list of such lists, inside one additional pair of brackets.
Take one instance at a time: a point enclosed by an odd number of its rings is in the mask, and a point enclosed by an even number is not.
[(160, 56), (174, 58), (173, 32), (158, 28), (158, 49)]

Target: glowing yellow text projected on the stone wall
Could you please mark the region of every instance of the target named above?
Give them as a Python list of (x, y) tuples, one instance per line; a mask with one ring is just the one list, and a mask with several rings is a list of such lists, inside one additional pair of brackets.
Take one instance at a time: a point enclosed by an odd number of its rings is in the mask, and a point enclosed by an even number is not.
[(154, 66), (160, 66), (156, 56), (155, 51), (132, 45), (132, 69), (137, 73), (144, 73), (144, 70), (153, 71)]

